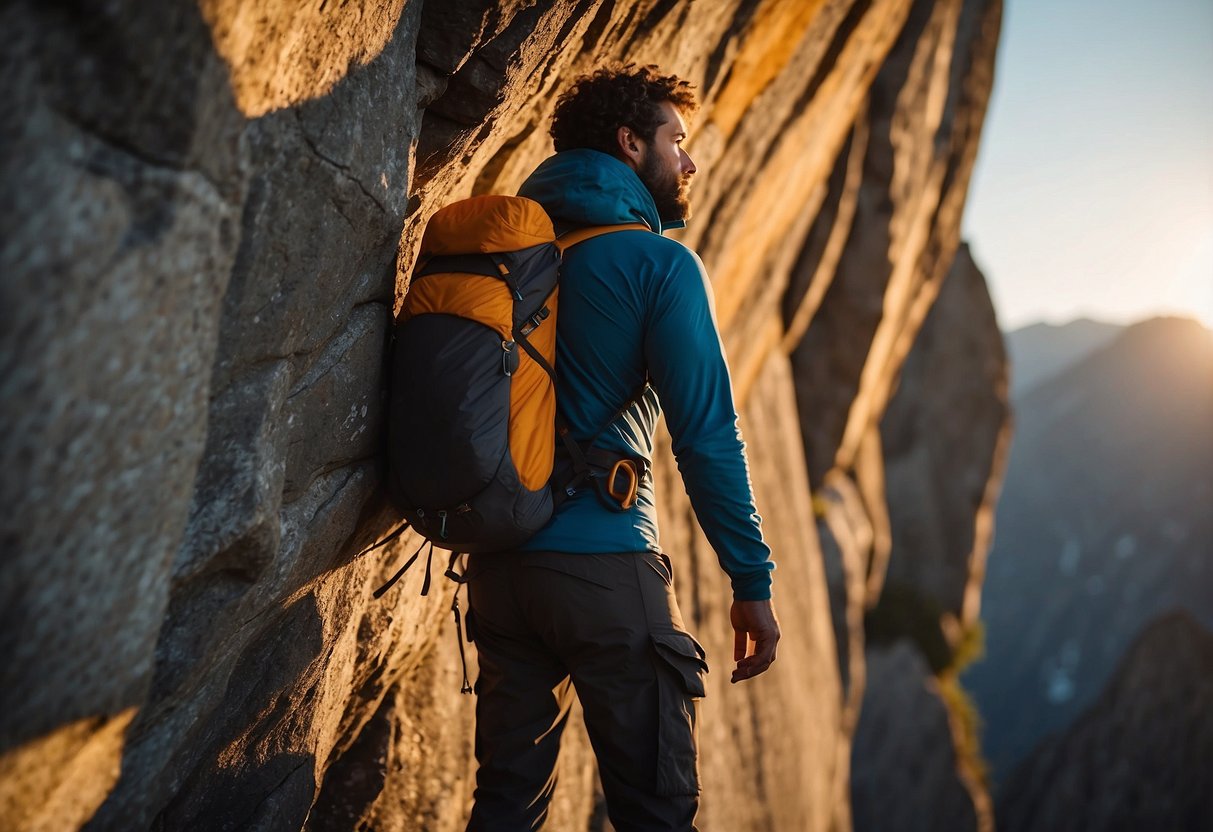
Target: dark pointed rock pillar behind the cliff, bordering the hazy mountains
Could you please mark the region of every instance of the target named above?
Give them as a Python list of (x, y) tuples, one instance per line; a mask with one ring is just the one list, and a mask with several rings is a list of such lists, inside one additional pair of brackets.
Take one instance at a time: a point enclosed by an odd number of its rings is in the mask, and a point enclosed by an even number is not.
[(962, 246), (881, 423), (890, 555), (864, 627), (856, 830), (993, 828), (956, 667), (979, 638), (1009, 418), (995, 310)]

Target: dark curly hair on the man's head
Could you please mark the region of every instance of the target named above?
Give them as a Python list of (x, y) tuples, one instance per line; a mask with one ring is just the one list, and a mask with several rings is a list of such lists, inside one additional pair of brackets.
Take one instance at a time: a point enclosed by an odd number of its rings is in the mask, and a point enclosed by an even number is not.
[(611, 65), (581, 75), (556, 102), (549, 131), (556, 152), (590, 148), (619, 155), (615, 136), (620, 127), (631, 127), (651, 142), (662, 124), (661, 102), (690, 115), (699, 108), (694, 89), (651, 64)]

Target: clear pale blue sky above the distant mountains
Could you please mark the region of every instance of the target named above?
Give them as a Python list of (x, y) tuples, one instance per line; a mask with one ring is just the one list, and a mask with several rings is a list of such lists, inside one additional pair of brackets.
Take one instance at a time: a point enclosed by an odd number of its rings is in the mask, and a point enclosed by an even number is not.
[(963, 237), (1003, 330), (1213, 326), (1213, 0), (1004, 0)]

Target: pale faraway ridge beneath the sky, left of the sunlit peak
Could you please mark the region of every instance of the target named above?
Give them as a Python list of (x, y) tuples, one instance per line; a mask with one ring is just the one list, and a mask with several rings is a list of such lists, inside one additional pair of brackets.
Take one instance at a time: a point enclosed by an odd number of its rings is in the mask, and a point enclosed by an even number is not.
[(1008, 332), (1012, 398), (1106, 347), (1123, 330), (1118, 324), (1080, 318), (1066, 324), (1030, 324)]

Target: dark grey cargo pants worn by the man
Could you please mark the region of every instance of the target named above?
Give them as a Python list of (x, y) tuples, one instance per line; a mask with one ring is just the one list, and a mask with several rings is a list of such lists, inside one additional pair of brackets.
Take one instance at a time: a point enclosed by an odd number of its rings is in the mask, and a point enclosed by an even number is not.
[(694, 830), (694, 700), (707, 663), (683, 625), (668, 558), (473, 554), (467, 581), (480, 665), (467, 828), (542, 826), (575, 689), (615, 830)]

